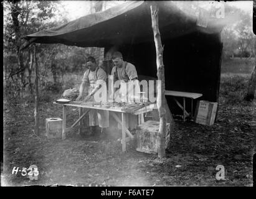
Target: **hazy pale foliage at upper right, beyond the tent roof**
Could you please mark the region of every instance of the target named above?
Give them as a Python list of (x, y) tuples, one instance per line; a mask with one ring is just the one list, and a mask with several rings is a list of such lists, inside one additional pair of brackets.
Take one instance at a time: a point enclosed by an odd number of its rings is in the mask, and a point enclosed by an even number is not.
[[(207, 11), (209, 16), (214, 16), (218, 2), (200, 1), (174, 1), (173, 4), (179, 7), (190, 17), (198, 17), (201, 9)], [(252, 32), (252, 16), (238, 7), (227, 2), (224, 5), (225, 27), (221, 37), (223, 42), (224, 58), (230, 57), (254, 57), (253, 42), (255, 36)]]

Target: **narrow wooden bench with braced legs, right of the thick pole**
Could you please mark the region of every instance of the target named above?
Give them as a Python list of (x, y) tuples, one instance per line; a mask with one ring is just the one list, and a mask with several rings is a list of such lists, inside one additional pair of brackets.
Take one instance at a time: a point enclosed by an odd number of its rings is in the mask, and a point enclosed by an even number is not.
[[(193, 116), (193, 99), (200, 98), (202, 93), (189, 93), (189, 92), (181, 92), (181, 91), (165, 91), (165, 95), (173, 96), (174, 101), (178, 104), (179, 108), (183, 110), (183, 121), (185, 121), (186, 117), (189, 116), (189, 113), (186, 111), (185, 98), (191, 99), (191, 118)], [(183, 106), (179, 103), (179, 101), (175, 97), (183, 98)]]

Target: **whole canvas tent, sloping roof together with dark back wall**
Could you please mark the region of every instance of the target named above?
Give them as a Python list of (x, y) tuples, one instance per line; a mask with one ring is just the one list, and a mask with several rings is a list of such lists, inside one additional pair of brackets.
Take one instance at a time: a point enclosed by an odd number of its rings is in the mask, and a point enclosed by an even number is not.
[[(202, 93), (202, 99), (216, 102), (219, 96), (222, 42), (221, 20), (211, 19), (207, 27), (196, 25), (170, 1), (159, 6), (159, 30), (164, 45), (166, 90)], [(156, 51), (151, 28), (150, 1), (127, 1), (103, 12), (80, 17), (53, 29), (25, 37), (29, 42), (79, 47), (116, 46), (124, 60), (136, 66), (139, 75), (156, 77)], [(168, 99), (171, 107), (173, 101)]]

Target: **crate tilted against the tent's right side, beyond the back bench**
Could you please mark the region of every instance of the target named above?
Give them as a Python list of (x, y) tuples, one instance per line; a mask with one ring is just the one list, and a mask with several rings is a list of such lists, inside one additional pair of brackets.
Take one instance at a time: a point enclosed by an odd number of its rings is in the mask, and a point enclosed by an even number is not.
[(211, 126), (214, 124), (217, 112), (217, 102), (198, 101), (196, 106), (196, 123)]

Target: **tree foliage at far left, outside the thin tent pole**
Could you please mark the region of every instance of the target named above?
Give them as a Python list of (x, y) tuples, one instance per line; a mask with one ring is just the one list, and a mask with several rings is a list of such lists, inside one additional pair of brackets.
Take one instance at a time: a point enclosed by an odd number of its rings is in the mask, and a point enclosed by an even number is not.
[[(57, 19), (61, 16), (59, 2), (52, 1), (4, 1), (4, 73), (6, 86), (16, 86), (17, 92), (26, 92), (31, 86), (31, 53), (32, 47), (21, 50), (24, 40), (22, 37), (40, 29), (47, 29), (57, 25), (57, 22), (67, 22)], [(58, 9), (57, 9), (58, 8)], [(47, 57), (42, 46), (37, 46), (40, 58)], [(32, 90), (31, 90), (32, 92)], [(15, 93), (14, 93), (15, 94)]]

